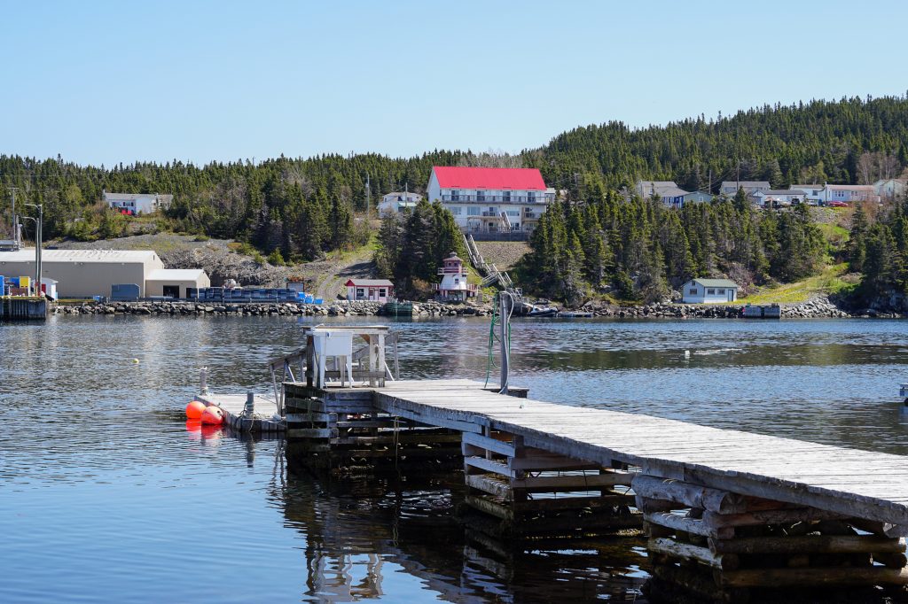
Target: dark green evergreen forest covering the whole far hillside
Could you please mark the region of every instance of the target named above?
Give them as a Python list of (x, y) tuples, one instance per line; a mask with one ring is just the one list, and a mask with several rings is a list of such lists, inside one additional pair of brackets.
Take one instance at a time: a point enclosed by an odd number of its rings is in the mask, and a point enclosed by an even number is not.
[[(254, 165), (94, 167), (62, 158), (2, 156), (0, 199), (5, 226), (15, 188), (18, 200), (44, 203), (45, 238), (106, 239), (133, 232), (136, 219), (104, 208), (102, 190), (172, 193), (173, 206), (163, 216), (138, 219), (143, 228), (237, 239), (271, 258), (304, 261), (368, 240), (368, 221), (357, 219), (366, 207), (367, 175), (374, 207), (390, 190), (424, 189), (435, 164), (538, 167), (549, 186), (568, 195), (540, 225), (534, 260), (524, 270), (528, 281), (550, 295), (572, 297), (584, 288), (611, 286), (627, 297), (646, 298), (695, 275), (798, 278), (816, 269), (825, 250), (803, 212), (757, 215), (731, 201), (668, 211), (642, 200), (625, 202), (618, 190), (638, 178), (676, 180), (687, 190), (706, 190), (711, 183), (713, 192), (721, 180), (737, 178), (774, 186), (873, 181), (903, 171), (906, 141), (908, 99), (855, 98), (642, 129), (608, 122), (503, 157), (432, 151), (410, 159), (360, 154), (281, 157)], [(419, 214), (428, 224), (429, 209)], [(444, 222), (437, 216), (431, 221)], [(396, 228), (403, 237), (407, 226)], [(394, 233), (386, 234), (393, 240)], [(425, 253), (434, 257), (435, 251)], [(388, 248), (381, 271), (401, 275), (413, 268), (411, 252)], [(428, 278), (427, 271), (421, 272)]]

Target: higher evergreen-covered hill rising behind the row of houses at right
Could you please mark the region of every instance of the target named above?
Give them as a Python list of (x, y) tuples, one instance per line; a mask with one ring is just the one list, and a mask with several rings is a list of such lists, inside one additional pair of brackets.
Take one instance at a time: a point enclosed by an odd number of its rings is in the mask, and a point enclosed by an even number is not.
[(775, 187), (864, 184), (893, 178), (908, 165), (908, 99), (767, 105), (637, 130), (608, 122), (559, 134), (525, 157), (550, 186), (571, 190), (582, 189), (585, 175), (601, 175), (609, 187), (637, 178), (675, 180), (685, 190), (706, 190), (712, 176), (714, 193), (722, 180), (738, 178)]

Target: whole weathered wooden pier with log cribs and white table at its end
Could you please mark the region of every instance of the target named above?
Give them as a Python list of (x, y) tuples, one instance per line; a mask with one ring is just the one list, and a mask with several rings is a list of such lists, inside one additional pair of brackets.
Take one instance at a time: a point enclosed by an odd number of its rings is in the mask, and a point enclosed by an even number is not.
[[(462, 468), (466, 521), (497, 538), (642, 528), (654, 601), (906, 596), (908, 457), (546, 403), (507, 380), (508, 395), (394, 381), (387, 328), (304, 335), (271, 364), (291, 464), (399, 477)], [(365, 342), (355, 352), (354, 337)]]

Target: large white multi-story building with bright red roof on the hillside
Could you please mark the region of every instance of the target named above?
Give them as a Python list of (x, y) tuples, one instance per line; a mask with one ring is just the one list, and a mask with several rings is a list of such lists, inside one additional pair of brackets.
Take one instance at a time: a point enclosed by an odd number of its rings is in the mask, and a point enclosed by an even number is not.
[(469, 233), (528, 233), (555, 200), (535, 168), (466, 168), (434, 166), (429, 201), (449, 209)]

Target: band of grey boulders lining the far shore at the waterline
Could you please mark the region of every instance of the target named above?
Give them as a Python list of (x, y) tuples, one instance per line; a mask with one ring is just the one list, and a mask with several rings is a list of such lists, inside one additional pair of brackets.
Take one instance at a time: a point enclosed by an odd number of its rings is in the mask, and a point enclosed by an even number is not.
[[(293, 303), (205, 303), (194, 302), (107, 302), (79, 305), (57, 305), (57, 315), (227, 315), (234, 317), (300, 316), (300, 317), (374, 317), (381, 315), (379, 302), (347, 302), (311, 305)], [(818, 297), (797, 304), (783, 304), (783, 318), (848, 318), (877, 317), (899, 318), (904, 314), (877, 311), (870, 308), (848, 310), (837, 306), (827, 297)], [(744, 304), (738, 305), (684, 305), (670, 302), (637, 307), (588, 303), (573, 310), (592, 313), (594, 317), (615, 318), (741, 318)], [(489, 305), (442, 304), (440, 302), (415, 302), (414, 317), (487, 317)]]

